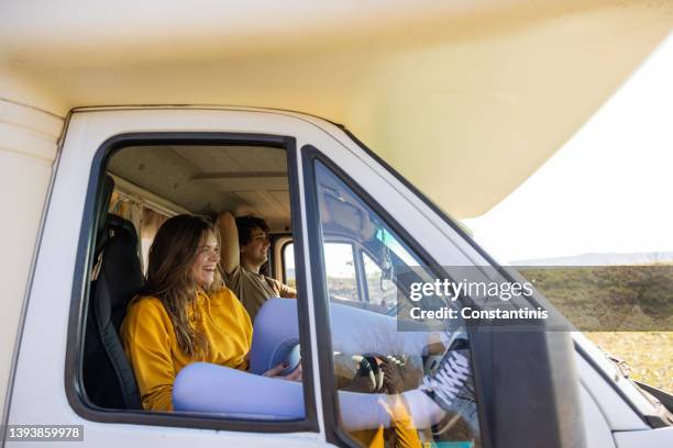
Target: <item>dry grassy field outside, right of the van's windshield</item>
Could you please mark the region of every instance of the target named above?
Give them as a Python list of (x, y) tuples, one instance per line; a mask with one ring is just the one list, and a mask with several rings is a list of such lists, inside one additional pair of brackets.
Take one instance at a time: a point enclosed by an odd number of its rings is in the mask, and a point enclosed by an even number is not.
[(673, 266), (520, 269), (630, 378), (673, 393)]

